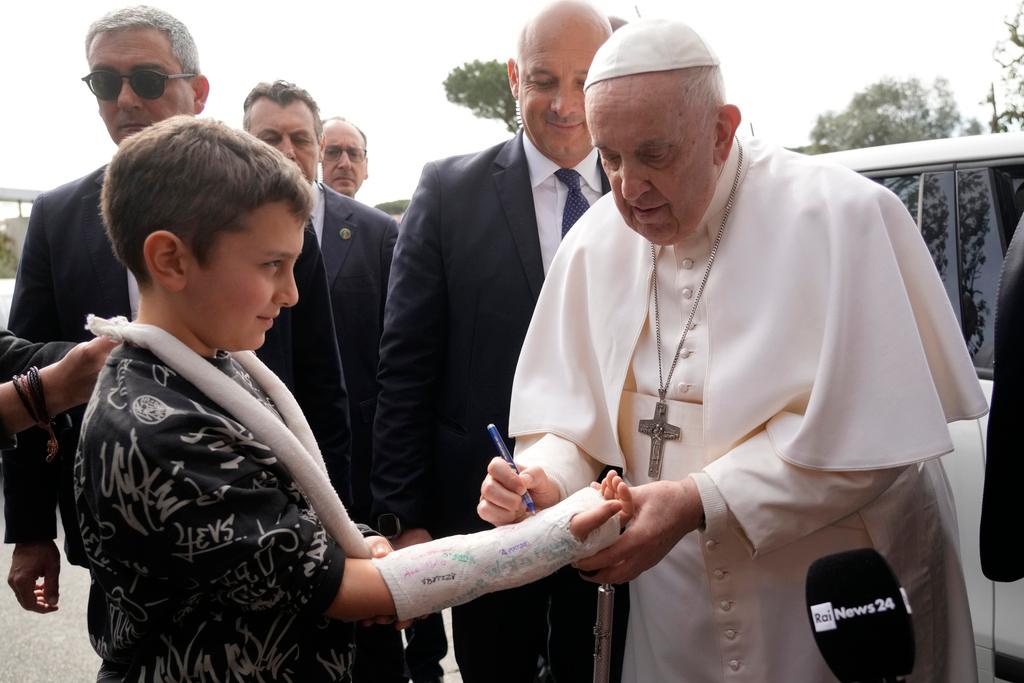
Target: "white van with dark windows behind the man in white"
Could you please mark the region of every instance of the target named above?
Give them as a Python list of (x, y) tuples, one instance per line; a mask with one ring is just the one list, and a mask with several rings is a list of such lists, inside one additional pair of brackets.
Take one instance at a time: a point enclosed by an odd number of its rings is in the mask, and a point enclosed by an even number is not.
[[(918, 219), (990, 398), (1002, 255), (1024, 213), (1024, 133), (906, 142), (820, 158), (886, 185)], [(943, 466), (956, 500), (979, 680), (1024, 683), (1024, 581), (988, 581), (978, 554), (987, 427), (984, 418), (950, 425), (956, 451)], [(1015, 542), (1020, 541), (1008, 539)]]

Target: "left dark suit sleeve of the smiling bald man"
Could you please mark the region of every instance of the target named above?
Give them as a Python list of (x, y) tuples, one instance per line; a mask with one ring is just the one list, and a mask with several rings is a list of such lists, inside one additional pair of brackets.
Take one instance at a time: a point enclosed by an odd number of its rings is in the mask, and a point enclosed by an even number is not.
[(384, 307), (374, 421), (373, 515), (426, 527), (434, 489), (434, 422), (447, 322), (440, 183), (428, 164), (398, 229)]

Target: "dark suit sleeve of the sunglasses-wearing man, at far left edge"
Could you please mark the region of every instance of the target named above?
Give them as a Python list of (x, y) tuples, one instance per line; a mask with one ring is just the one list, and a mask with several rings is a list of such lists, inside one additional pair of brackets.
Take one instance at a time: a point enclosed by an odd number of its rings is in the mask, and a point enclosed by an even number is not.
[[(33, 204), (8, 321), (11, 332), (33, 341), (60, 338), (46, 230), (47, 208), (45, 195)], [(41, 434), (36, 428), (28, 430), (18, 439), (17, 447), (7, 451), (3, 457), (6, 543), (56, 538), (60, 467), (58, 460), (47, 463), (43, 457)], [(67, 449), (61, 447), (61, 451)]]

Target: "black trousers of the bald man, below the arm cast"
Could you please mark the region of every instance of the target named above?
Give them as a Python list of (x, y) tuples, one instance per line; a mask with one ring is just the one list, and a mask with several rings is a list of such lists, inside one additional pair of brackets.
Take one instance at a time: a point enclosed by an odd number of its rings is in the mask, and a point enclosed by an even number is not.
[[(627, 586), (615, 590), (611, 680), (622, 677)], [(597, 585), (566, 566), (541, 581), (452, 608), (455, 657), (464, 683), (591, 683)]]

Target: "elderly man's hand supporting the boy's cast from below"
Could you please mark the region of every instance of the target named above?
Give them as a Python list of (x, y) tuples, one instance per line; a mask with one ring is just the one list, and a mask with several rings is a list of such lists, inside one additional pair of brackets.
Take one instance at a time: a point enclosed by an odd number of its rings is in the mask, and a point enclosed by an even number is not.
[(700, 523), (703, 507), (696, 484), (689, 477), (633, 486), (629, 493), (633, 521), (626, 532), (601, 552), (575, 563), (588, 581), (633, 581), (662, 561), (680, 539)]

